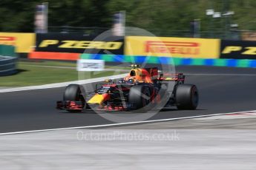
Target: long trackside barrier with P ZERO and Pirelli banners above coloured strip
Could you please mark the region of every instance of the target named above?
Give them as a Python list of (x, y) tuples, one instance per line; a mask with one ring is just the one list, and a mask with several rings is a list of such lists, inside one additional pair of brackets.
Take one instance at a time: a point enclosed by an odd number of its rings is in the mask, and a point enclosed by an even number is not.
[[(256, 41), (125, 36), (95, 43), (94, 38), (82, 34), (36, 34), (36, 48), (30, 52), (28, 58), (65, 61), (82, 58), (106, 62), (256, 67)], [(86, 54), (82, 54), (85, 50)]]

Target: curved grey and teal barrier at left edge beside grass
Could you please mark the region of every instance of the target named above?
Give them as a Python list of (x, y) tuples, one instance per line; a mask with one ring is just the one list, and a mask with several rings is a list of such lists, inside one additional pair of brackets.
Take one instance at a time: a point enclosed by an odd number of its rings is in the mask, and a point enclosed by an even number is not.
[(0, 76), (16, 73), (16, 53), (13, 46), (0, 45)]

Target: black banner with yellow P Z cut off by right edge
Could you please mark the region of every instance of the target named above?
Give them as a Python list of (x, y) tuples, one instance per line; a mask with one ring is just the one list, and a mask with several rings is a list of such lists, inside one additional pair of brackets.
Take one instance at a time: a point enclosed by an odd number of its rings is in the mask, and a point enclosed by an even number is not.
[(256, 41), (221, 41), (220, 58), (256, 59)]

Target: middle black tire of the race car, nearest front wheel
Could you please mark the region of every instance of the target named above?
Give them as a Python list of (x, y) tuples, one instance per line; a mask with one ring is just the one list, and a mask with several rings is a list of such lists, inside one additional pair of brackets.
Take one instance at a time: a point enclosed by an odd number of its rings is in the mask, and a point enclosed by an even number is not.
[(134, 104), (135, 109), (141, 109), (151, 102), (151, 92), (148, 86), (132, 86), (129, 92), (129, 102)]

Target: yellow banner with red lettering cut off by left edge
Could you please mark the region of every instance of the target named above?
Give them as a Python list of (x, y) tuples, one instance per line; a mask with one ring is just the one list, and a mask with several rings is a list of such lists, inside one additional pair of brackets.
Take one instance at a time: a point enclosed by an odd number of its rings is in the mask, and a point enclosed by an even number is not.
[(13, 45), (16, 52), (31, 52), (36, 45), (35, 33), (0, 33), (0, 44)]

